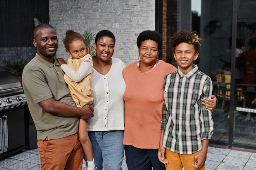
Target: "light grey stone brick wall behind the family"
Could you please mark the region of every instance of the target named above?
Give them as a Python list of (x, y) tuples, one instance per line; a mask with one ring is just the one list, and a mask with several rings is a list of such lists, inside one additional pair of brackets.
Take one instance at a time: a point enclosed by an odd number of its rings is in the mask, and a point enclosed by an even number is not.
[(57, 57), (68, 57), (62, 42), (68, 29), (81, 34), (107, 29), (116, 37), (114, 57), (127, 65), (138, 60), (139, 33), (155, 30), (155, 0), (49, 0), (49, 17), (57, 31)]

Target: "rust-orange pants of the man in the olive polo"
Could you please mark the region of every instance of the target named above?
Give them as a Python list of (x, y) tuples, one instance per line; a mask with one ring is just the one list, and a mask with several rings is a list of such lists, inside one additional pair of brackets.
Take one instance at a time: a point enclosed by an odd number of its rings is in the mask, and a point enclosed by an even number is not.
[(81, 170), (83, 148), (78, 133), (60, 139), (37, 140), (42, 170)]

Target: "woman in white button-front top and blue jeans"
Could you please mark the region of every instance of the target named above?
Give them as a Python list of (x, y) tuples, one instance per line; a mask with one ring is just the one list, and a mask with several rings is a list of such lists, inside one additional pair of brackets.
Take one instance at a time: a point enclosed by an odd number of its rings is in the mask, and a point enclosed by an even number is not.
[(124, 63), (112, 57), (115, 36), (108, 30), (97, 33), (94, 43), (92, 94), (94, 117), (88, 122), (97, 170), (121, 170), (124, 159)]

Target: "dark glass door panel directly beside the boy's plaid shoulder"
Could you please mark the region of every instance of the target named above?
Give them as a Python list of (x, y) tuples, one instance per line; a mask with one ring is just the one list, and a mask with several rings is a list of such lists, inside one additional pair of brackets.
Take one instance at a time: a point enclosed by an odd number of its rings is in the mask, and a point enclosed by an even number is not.
[(211, 141), (229, 140), (230, 61), (233, 0), (202, 0), (200, 36), (204, 39), (199, 54), (200, 71), (211, 76), (213, 94), (218, 98), (213, 110), (214, 132)]

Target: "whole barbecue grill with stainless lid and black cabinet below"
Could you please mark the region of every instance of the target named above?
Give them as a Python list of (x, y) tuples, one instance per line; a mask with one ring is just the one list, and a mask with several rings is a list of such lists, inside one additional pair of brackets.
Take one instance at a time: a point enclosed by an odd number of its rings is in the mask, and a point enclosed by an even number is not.
[(0, 159), (27, 148), (25, 107), (27, 107), (27, 98), (20, 82), (11, 73), (1, 71)]

